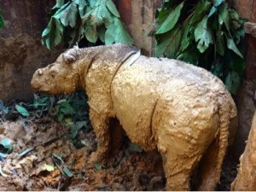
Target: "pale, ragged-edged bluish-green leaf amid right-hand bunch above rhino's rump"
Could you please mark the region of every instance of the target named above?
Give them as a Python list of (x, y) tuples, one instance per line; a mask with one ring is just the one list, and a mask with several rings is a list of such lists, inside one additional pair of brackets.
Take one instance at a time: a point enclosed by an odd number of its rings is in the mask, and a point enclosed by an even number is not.
[(195, 28), (195, 42), (198, 42), (197, 49), (201, 53), (204, 53), (210, 44), (213, 44), (212, 41), (212, 32), (209, 30), (207, 26), (207, 16)]

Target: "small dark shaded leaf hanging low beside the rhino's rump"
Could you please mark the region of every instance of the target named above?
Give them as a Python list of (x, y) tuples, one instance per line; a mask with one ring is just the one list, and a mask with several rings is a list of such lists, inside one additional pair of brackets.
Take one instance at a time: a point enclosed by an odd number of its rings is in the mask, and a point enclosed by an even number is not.
[(234, 95), (236, 95), (236, 91), (239, 89), (240, 84), (240, 77), (236, 72), (230, 72), (225, 79), (227, 89)]

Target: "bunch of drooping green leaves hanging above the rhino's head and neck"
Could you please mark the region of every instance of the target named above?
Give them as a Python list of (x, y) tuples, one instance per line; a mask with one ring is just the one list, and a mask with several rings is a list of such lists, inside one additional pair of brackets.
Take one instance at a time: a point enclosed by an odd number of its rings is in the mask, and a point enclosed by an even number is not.
[(96, 44), (132, 44), (112, 0), (56, 0), (42, 44), (48, 49), (64, 40), (70, 46), (86, 38)]

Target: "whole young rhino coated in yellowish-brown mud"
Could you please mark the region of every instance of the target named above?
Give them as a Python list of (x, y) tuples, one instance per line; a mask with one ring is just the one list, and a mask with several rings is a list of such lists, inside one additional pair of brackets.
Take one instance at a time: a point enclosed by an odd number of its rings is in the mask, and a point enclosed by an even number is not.
[(34, 73), (32, 88), (53, 95), (86, 90), (97, 137), (91, 160), (106, 158), (109, 120), (117, 118), (133, 143), (159, 150), (166, 189), (188, 190), (201, 160), (199, 189), (213, 190), (236, 130), (230, 93), (211, 73), (182, 61), (142, 55), (125, 65), (136, 51), (124, 44), (69, 49)]

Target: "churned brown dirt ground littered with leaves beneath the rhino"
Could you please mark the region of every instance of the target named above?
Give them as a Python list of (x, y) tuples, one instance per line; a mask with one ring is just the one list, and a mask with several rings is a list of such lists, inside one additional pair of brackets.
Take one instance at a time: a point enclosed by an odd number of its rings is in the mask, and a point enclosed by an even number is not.
[[(0, 156), (0, 190), (166, 190), (161, 157), (156, 152), (131, 148), (125, 138), (107, 166), (91, 165), (87, 162), (96, 150), (94, 132), (79, 131), (82, 148), (70, 139), (70, 132), (66, 125), (47, 117), (0, 123), (0, 141), (8, 138), (14, 146), (7, 158)], [(56, 154), (61, 154), (63, 161), (56, 160)], [(70, 172), (63, 172), (63, 167)], [(228, 156), (218, 190), (230, 190), (235, 177), (236, 162)]]

